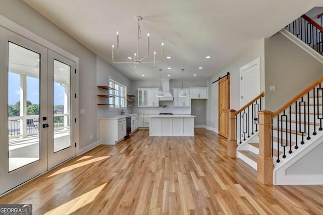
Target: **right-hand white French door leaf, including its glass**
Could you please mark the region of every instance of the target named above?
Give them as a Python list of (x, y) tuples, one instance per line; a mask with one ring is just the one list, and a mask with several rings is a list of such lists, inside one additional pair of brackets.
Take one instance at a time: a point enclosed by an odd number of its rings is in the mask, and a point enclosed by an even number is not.
[[(48, 50), (48, 169), (75, 157), (75, 62)], [(73, 95), (73, 96), (72, 96)]]

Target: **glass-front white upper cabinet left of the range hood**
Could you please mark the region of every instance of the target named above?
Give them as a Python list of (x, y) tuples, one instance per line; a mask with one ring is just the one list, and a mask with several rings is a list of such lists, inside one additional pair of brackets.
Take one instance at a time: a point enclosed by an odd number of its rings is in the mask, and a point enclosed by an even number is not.
[(157, 88), (138, 88), (138, 107), (158, 107)]

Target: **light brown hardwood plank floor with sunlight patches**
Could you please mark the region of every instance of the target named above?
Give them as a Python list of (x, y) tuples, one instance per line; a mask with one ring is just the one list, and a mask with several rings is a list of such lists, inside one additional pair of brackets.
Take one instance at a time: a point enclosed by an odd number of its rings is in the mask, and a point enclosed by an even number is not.
[(0, 198), (34, 214), (323, 214), (323, 186), (265, 186), (212, 131), (98, 146)]

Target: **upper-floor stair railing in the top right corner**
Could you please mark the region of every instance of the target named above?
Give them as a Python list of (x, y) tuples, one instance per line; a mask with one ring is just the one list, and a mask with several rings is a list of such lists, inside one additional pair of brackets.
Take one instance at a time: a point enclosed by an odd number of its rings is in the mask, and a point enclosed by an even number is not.
[[(321, 18), (321, 25), (322, 25), (322, 18)], [(311, 18), (309, 18), (304, 14), (301, 17), (294, 20), (289, 25), (287, 25), (285, 29), (291, 32), (298, 39), (302, 40), (308, 46), (312, 47), (318, 53), (323, 55), (323, 46), (322, 46), (323, 27), (321, 25), (319, 25), (314, 20), (312, 20)]]

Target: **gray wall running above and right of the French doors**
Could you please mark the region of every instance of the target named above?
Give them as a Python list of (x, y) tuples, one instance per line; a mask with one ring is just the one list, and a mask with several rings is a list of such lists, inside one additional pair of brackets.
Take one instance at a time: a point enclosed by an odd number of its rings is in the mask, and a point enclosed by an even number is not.
[[(0, 1), (0, 15), (79, 57), (80, 149), (96, 141), (96, 55), (22, 1)], [(90, 135), (93, 138), (90, 139)]]

